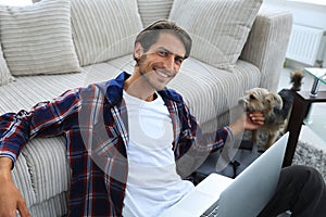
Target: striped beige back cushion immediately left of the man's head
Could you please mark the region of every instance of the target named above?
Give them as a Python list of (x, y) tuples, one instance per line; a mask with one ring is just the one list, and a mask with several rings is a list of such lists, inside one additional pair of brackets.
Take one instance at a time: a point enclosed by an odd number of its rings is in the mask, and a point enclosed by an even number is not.
[(131, 53), (142, 24), (136, 0), (71, 0), (73, 38), (82, 66)]

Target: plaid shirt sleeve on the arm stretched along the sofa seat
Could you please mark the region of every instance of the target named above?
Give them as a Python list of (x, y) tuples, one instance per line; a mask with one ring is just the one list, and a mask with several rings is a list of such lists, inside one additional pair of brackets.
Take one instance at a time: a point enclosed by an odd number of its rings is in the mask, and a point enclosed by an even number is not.
[(79, 89), (68, 90), (51, 101), (37, 103), (30, 111), (0, 116), (0, 157), (15, 163), (26, 143), (35, 137), (63, 135), (78, 123)]

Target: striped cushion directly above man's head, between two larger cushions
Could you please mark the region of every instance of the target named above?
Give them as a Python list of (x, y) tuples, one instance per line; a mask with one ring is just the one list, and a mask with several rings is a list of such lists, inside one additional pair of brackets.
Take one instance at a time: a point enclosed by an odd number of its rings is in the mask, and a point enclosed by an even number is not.
[(168, 18), (172, 3), (173, 0), (138, 0), (142, 25), (148, 26), (154, 21)]

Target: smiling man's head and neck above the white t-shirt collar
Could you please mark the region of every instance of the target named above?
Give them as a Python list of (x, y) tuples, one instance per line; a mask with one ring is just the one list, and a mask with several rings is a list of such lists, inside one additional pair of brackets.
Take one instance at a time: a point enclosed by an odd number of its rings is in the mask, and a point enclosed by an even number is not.
[[(150, 44), (151, 40), (155, 40), (155, 43)], [(124, 89), (134, 97), (152, 101), (154, 91), (163, 90), (179, 72), (190, 48), (191, 39), (185, 33), (181, 35), (174, 30), (155, 29), (141, 31), (135, 43), (135, 72), (125, 81)]]

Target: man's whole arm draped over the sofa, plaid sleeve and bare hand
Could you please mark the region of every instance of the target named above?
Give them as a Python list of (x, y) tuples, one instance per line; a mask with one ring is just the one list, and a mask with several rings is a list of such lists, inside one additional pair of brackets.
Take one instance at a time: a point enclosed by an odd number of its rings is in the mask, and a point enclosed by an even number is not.
[(72, 117), (78, 112), (78, 90), (66, 91), (52, 101), (38, 103), (30, 112), (0, 116), (1, 217), (16, 216), (16, 210), (23, 217), (29, 216), (26, 203), (12, 181), (14, 162), (30, 138), (60, 135), (70, 127)]

